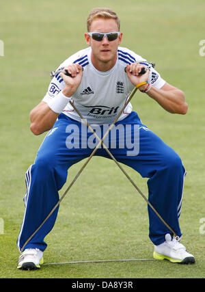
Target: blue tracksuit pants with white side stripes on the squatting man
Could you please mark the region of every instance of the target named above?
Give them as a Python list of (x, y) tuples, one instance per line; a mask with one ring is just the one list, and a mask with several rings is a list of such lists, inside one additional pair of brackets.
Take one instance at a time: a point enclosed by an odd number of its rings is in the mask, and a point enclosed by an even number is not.
[[(115, 131), (115, 139), (110, 133), (105, 144), (109, 146), (109, 150), (120, 163), (130, 166), (142, 177), (149, 178), (148, 200), (175, 233), (181, 236), (178, 217), (180, 216), (186, 172), (180, 157), (152, 131), (141, 124), (141, 120), (134, 111), (124, 120), (117, 122), (115, 129), (122, 130), (120, 127), (125, 129), (125, 125), (130, 125), (126, 128), (126, 135), (123, 136), (122, 131)], [(138, 132), (135, 131), (136, 125), (138, 125)], [(60, 114), (53, 129), (44, 138), (35, 162), (25, 174), (27, 186), (24, 198), (25, 215), (17, 239), (20, 250), (58, 202), (58, 191), (66, 183), (70, 166), (89, 157), (94, 150), (94, 135), (89, 131), (84, 131), (85, 129), (87, 129), (85, 124), (82, 128), (80, 122)], [(98, 126), (99, 129), (102, 130), (101, 133), (100, 131), (96, 131), (96, 133), (103, 137), (105, 129)], [(129, 144), (126, 143), (126, 139), (130, 139)], [(132, 152), (130, 145), (134, 144), (131, 142), (137, 141), (137, 139), (139, 147), (136, 146), (135, 151)], [(110, 158), (102, 147), (98, 148), (95, 155)], [(31, 238), (25, 248), (45, 250), (44, 237), (53, 228), (57, 211), (58, 208)], [(149, 206), (148, 215), (150, 240), (155, 245), (159, 245), (165, 241), (165, 234), (171, 232)]]

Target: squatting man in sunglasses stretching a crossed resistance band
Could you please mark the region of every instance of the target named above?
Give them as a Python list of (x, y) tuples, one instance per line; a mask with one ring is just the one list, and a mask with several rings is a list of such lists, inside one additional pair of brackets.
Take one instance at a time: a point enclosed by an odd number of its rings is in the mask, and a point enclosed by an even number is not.
[[(87, 49), (75, 53), (59, 66), (67, 70), (71, 77), (62, 72), (55, 75), (48, 92), (30, 114), (31, 131), (35, 135), (51, 131), (44, 138), (35, 163), (26, 173), (25, 215), (17, 241), (22, 252), (18, 261), (19, 269), (40, 267), (46, 248), (44, 237), (55, 224), (57, 209), (24, 244), (58, 202), (58, 191), (66, 183), (68, 168), (89, 157), (93, 150), (85, 143), (90, 136), (82, 130), (81, 118), (69, 101), (89, 124), (97, 124), (100, 129), (115, 120), (135, 86), (143, 92), (141, 94), (147, 94), (170, 113), (187, 112), (187, 103), (181, 90), (165, 82), (156, 70), (150, 68), (146, 59), (119, 47), (122, 33), (115, 12), (107, 8), (92, 10), (87, 18), (85, 41), (89, 46)], [(147, 67), (149, 70), (141, 75), (142, 68)], [(78, 129), (79, 147), (72, 147), (71, 140), (67, 140), (70, 125)], [(117, 125), (125, 127), (128, 131), (126, 135), (132, 137), (133, 125), (139, 125), (139, 151), (135, 155), (128, 155), (127, 146), (120, 147), (120, 135), (116, 137), (115, 147), (109, 150), (120, 163), (129, 165), (141, 176), (149, 178), (150, 203), (178, 235), (174, 237), (148, 207), (149, 236), (154, 243), (154, 258), (168, 259), (172, 263), (194, 263), (194, 256), (179, 241), (182, 233), (178, 217), (186, 174), (180, 157), (141, 123), (131, 104), (126, 106)], [(131, 125), (131, 128), (126, 125)], [(111, 142), (109, 137), (109, 145)], [(96, 155), (109, 157), (103, 148), (99, 148)], [(24, 250), (21, 250), (23, 246)]]

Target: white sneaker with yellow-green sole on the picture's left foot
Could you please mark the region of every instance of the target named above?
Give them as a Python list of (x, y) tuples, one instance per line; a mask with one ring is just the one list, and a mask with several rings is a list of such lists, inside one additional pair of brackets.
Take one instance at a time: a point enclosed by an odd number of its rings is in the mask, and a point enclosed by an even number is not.
[(40, 269), (44, 263), (43, 252), (38, 248), (27, 248), (18, 258), (17, 269)]

